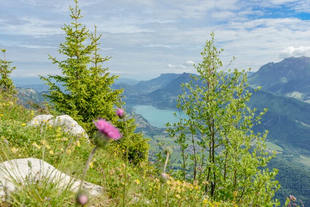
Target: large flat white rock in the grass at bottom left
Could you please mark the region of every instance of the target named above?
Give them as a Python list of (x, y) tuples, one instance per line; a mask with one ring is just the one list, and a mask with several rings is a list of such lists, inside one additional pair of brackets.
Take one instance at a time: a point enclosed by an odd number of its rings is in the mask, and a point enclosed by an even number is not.
[[(81, 183), (42, 159), (11, 159), (0, 163), (0, 198), (3, 200), (5, 195), (9, 195), (19, 186), (38, 180), (57, 183), (59, 190), (69, 188), (73, 192), (78, 191)], [(103, 187), (88, 182), (83, 182), (82, 189), (91, 196), (100, 196), (103, 193)]]

